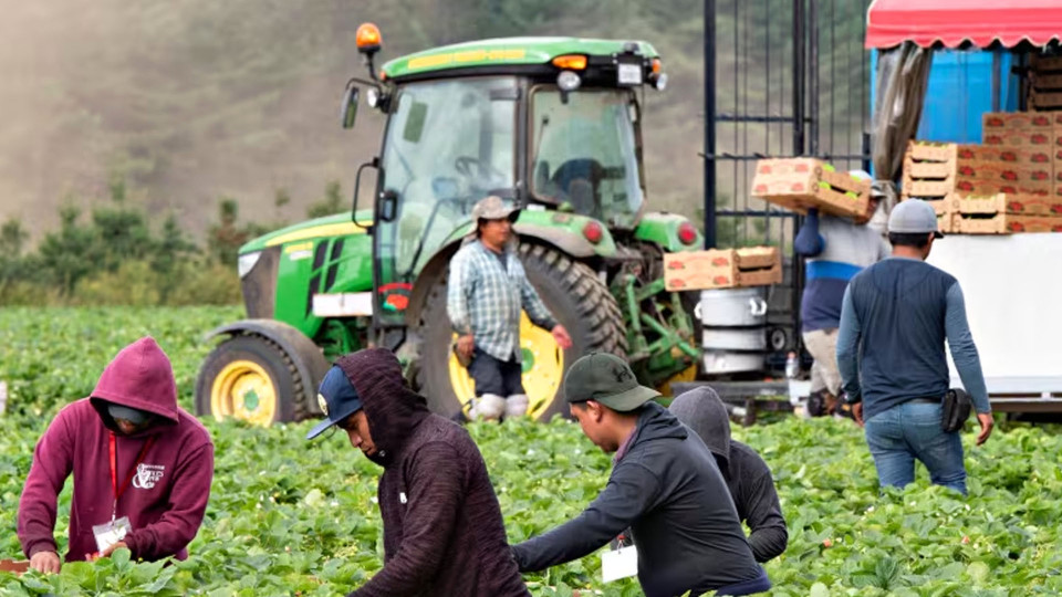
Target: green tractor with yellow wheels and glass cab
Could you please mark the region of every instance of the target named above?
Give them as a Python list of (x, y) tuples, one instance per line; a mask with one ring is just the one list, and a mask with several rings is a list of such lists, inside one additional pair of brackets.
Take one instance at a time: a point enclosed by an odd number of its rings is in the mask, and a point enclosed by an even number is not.
[[(378, 73), (375, 25), (358, 29), (357, 46), (371, 76), (347, 85), (342, 121), (354, 126), (366, 86), (367, 105), (387, 116), (378, 157), (357, 170), (353, 213), (240, 249), (249, 318), (211, 332), (222, 339), (198, 376), (199, 415), (263, 426), (320, 416), (330, 363), (366, 346), (394, 350), (434, 411), (467, 413), (475, 387), (451, 349), (447, 269), (488, 195), (522, 208), (520, 258), (574, 342), (560, 349), (524, 315), (531, 416), (566, 416), (564, 371), (590, 350), (625, 356), (652, 387), (696, 375), (697, 294), (665, 291), (663, 255), (699, 250), (702, 238), (645, 205), (638, 92), (666, 82), (652, 45), (486, 40), (395, 59)], [(371, 169), (373, 206), (360, 210)]]

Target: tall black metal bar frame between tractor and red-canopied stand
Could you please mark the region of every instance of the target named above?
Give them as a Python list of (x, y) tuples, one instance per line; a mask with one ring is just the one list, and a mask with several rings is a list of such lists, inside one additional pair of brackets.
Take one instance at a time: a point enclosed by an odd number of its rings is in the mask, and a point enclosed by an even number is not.
[[(803, 261), (792, 250), (801, 218), (752, 198), (756, 160), (814, 156), (870, 168), (870, 0), (705, 0), (704, 227), (708, 249), (774, 244), (785, 282), (772, 289), (768, 325), (799, 349)], [(806, 357), (805, 357), (806, 358)]]

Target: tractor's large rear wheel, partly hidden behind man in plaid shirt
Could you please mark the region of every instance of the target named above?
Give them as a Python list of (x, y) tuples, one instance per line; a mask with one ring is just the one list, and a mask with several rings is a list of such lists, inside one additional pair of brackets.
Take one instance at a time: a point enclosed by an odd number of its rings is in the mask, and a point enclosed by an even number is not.
[[(530, 413), (542, 421), (554, 415), (569, 417), (563, 398), (564, 374), (572, 363), (590, 352), (626, 356), (623, 315), (605, 283), (585, 264), (540, 244), (521, 243), (519, 255), (531, 285), (554, 318), (568, 329), (573, 343), (568, 350), (561, 350), (548, 332), (532, 332), (533, 341), (527, 329), (521, 334), (524, 389), (532, 405)], [(446, 312), (446, 290), (447, 272), (444, 272), (434, 283), (420, 312), (419, 328), (424, 343), (417, 385), (433, 411), (462, 419), (468, 412), (473, 386), (452, 355), (456, 336)], [(538, 356), (531, 354), (529, 343)], [(548, 389), (535, 396), (534, 387)]]

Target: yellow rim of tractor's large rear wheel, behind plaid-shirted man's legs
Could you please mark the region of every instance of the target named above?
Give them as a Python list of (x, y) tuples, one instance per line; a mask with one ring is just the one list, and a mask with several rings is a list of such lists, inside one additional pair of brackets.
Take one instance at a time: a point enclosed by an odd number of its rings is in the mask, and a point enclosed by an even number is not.
[[(457, 339), (456, 334), (454, 339)], [(523, 360), (523, 389), (530, 401), (528, 415), (538, 419), (549, 410), (561, 388), (561, 381), (564, 380), (564, 350), (556, 345), (553, 334), (533, 325), (527, 313), (520, 314), (520, 349)], [(461, 402), (461, 410), (467, 416), (476, 396), (476, 383), (452, 352), (449, 368), (450, 384)]]

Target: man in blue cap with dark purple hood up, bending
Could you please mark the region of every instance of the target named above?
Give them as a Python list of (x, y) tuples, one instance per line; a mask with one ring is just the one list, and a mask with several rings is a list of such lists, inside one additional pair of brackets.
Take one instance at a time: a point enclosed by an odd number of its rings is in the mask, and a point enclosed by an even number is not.
[(351, 595), (529, 595), (479, 449), (459, 425), (428, 412), (393, 354), (340, 358), (317, 400), (327, 419), (306, 439), (336, 426), (384, 468), (384, 567)]

